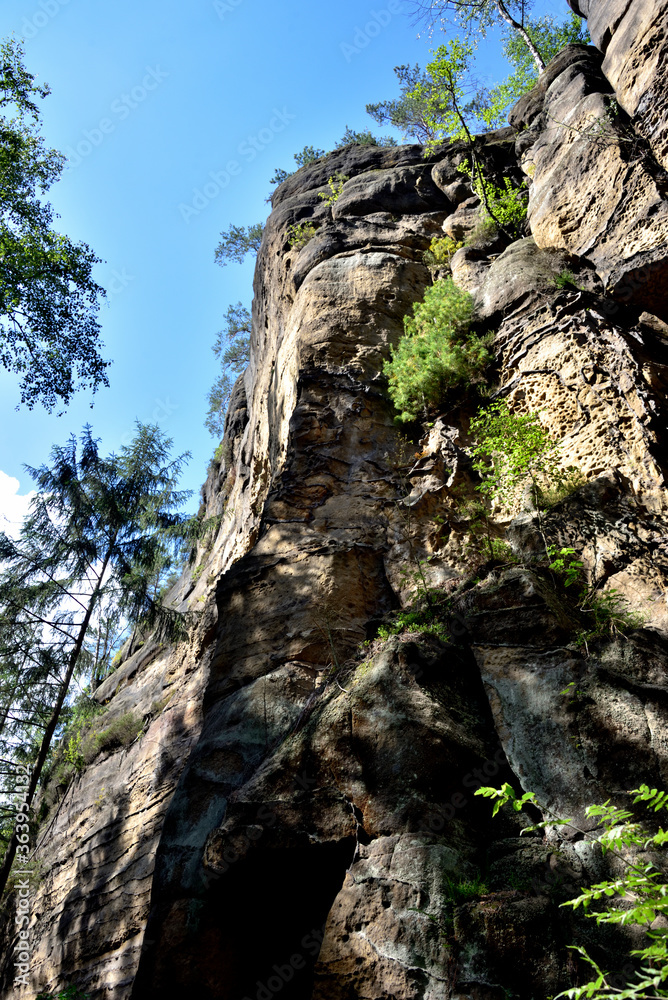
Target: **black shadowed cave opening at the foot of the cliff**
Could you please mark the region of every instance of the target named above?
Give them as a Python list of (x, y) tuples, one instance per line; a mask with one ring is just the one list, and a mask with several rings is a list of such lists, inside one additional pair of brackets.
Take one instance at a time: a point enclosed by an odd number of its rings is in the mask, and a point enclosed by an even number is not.
[(193, 971), (191, 995), (239, 1000), (255, 997), (261, 983), (281, 1000), (310, 1000), (325, 921), (354, 850), (349, 838), (260, 850), (231, 865), (203, 906), (193, 954), (183, 956)]

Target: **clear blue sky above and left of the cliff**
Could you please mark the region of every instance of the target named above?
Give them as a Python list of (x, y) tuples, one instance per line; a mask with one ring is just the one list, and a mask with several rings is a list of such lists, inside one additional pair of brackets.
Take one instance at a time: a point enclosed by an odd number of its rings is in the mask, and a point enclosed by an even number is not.
[[(61, 417), (15, 410), (0, 370), (0, 520), (15, 520), (23, 463), (48, 461), (89, 422), (103, 453), (158, 423), (195, 491), (217, 444), (203, 426), (227, 306), (250, 306), (253, 264), (214, 263), (221, 230), (264, 221), (269, 179), (305, 145), (331, 149), (348, 125), (378, 129), (365, 104), (398, 95), (393, 67), (444, 41), (417, 37), (410, 0), (3, 0), (0, 35), (24, 37), (26, 65), (52, 93), (42, 134), (68, 168), (49, 192), (57, 226), (104, 263), (100, 320), (110, 388), (79, 393)], [(535, 12), (560, 18), (565, 0)], [(487, 83), (507, 69), (480, 48)], [(387, 130), (385, 130), (387, 131)], [(399, 138), (399, 136), (397, 136)], [(230, 165), (231, 168), (230, 168)], [(91, 409), (91, 402), (94, 404)], [(2, 475), (4, 473), (4, 476)], [(9, 477), (9, 479), (7, 478)], [(0, 525), (1, 526), (1, 525)]]

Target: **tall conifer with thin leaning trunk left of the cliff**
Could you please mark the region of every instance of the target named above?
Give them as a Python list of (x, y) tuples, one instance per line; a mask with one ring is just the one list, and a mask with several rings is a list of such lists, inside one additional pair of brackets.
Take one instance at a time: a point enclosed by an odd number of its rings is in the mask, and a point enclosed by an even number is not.
[[(0, 534), (0, 757), (30, 762), (28, 805), (72, 681), (90, 670), (93, 629), (114, 613), (170, 636), (186, 624), (155, 600), (156, 566), (193, 520), (177, 490), (189, 456), (170, 459), (170, 448), (158, 427), (137, 424), (131, 444), (103, 458), (86, 427), (80, 447), (71, 437), (51, 465), (28, 468), (38, 492), (20, 538)], [(12, 836), (0, 893), (15, 851)]]

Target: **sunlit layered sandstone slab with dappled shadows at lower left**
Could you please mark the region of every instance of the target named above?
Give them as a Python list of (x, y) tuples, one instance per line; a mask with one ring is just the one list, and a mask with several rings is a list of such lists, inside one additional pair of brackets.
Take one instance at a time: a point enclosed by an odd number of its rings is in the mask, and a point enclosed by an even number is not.
[[(194, 645), (191, 657), (198, 652)], [(31, 899), (33, 995), (56, 980), (103, 984), (99, 995), (108, 996), (131, 988), (165, 813), (201, 726), (206, 672), (193, 666), (183, 650), (153, 646), (131, 656), (98, 689), (102, 701), (111, 698), (99, 722), (107, 727), (131, 711), (145, 722), (143, 735), (103, 752), (65, 788), (48, 789)], [(3, 974), (7, 995), (17, 995), (10, 949)]]

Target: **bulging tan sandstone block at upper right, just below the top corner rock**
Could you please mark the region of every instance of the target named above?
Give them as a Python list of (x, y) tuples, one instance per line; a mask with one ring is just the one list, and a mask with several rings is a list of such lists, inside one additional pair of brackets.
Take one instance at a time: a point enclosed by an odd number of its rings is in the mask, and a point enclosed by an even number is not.
[(666, 318), (668, 179), (614, 111), (599, 62), (595, 50), (568, 46), (511, 114), (528, 129), (520, 148), (531, 232), (540, 247), (588, 258), (618, 301)]

